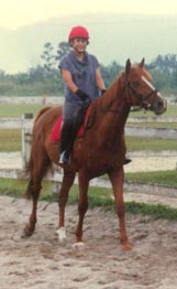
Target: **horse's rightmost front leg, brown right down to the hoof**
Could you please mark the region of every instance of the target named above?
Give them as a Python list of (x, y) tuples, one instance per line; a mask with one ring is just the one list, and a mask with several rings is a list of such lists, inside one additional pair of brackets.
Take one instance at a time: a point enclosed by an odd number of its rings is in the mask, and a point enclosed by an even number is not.
[(125, 228), (125, 206), (123, 201), (123, 180), (124, 180), (124, 171), (123, 168), (118, 171), (112, 171), (109, 173), (110, 181), (113, 188), (113, 194), (115, 199), (115, 210), (119, 216), (120, 222), (120, 240), (123, 245), (123, 249), (128, 250), (131, 249), (131, 245), (129, 243), (126, 236), (126, 228)]

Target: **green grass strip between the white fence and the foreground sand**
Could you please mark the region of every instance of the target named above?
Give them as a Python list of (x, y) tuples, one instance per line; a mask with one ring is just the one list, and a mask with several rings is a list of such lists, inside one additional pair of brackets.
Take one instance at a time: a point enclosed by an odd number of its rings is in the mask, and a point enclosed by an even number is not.
[[(25, 191), (26, 181), (2, 180), (0, 179), (0, 194), (13, 197), (22, 197)], [(104, 211), (114, 212), (114, 200), (110, 196), (112, 191), (108, 189), (89, 189), (89, 207), (101, 207)], [(57, 202), (57, 196), (51, 193), (51, 183), (43, 182), (41, 201)], [(70, 190), (68, 204), (78, 204), (78, 186), (74, 185)], [(165, 205), (150, 205), (136, 202), (125, 203), (126, 213), (150, 215), (153, 218), (166, 218), (177, 221), (177, 208)]]

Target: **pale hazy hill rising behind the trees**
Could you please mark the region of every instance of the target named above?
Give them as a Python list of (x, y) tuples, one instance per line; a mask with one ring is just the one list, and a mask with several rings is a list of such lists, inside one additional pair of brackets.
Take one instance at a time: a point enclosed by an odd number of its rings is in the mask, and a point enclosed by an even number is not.
[(126, 58), (153, 61), (158, 54), (177, 53), (177, 17), (131, 14), (78, 14), (58, 17), (14, 31), (0, 29), (0, 69), (7, 73), (25, 72), (41, 62), (46, 42), (67, 41), (71, 26), (86, 25), (90, 31), (88, 51), (101, 64), (120, 64)]

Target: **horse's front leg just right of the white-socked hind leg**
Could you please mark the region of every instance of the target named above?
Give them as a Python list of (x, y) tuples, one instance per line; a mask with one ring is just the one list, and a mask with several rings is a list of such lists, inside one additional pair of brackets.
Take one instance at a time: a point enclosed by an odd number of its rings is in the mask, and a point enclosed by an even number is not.
[(79, 171), (79, 221), (76, 228), (76, 240), (78, 245), (82, 244), (82, 224), (84, 217), (88, 208), (88, 185), (89, 185), (89, 178), (87, 172)]

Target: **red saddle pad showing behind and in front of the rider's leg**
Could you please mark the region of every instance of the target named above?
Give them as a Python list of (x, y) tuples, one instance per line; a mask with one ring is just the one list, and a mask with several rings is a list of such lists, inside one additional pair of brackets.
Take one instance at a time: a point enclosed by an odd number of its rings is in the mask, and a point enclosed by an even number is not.
[[(93, 121), (95, 121), (95, 114), (90, 115), (90, 106), (89, 106), (88, 109), (86, 110), (84, 121), (77, 131), (77, 137), (82, 137), (85, 131), (92, 127)], [(56, 120), (56, 122), (53, 126), (53, 129), (51, 131), (51, 138), (49, 138), (51, 141), (54, 141), (54, 142), (59, 141), (62, 124), (63, 124), (63, 115), (58, 117), (58, 119)]]

